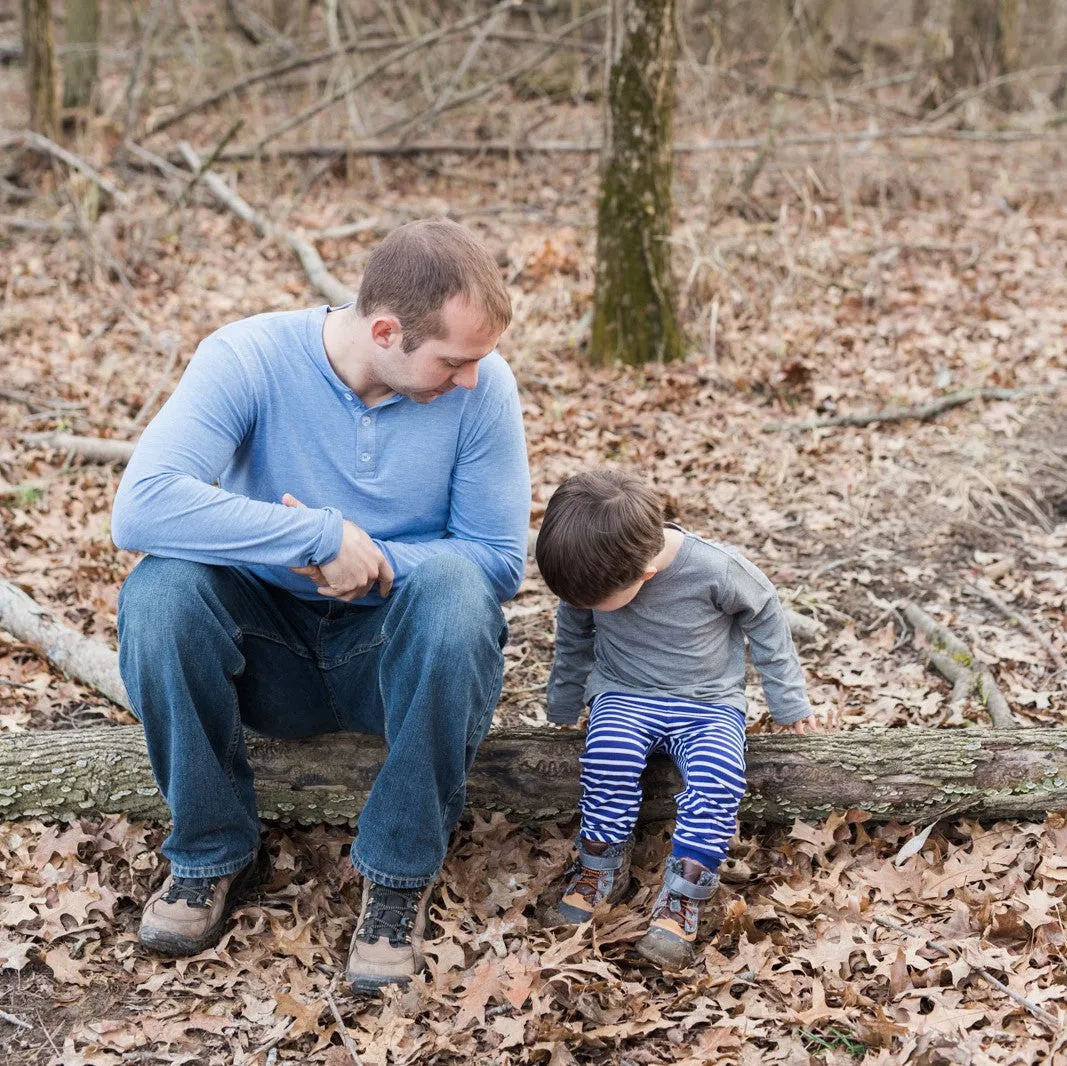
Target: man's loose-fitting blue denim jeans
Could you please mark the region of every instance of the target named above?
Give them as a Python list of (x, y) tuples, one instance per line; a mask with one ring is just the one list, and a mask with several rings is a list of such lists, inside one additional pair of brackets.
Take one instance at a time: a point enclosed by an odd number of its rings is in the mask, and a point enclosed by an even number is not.
[(435, 556), (387, 603), (351, 607), (306, 603), (241, 568), (147, 556), (123, 585), (118, 641), (174, 816), (173, 874), (218, 877), (255, 856), (248, 727), (384, 736), (352, 864), (394, 888), (437, 876), (504, 677), (507, 624), (474, 563)]

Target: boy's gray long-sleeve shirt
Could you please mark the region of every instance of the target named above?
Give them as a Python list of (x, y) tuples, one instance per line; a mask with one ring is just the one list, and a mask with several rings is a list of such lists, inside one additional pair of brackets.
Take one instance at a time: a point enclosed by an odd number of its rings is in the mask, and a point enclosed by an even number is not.
[(600, 693), (674, 696), (744, 714), (745, 637), (775, 721), (811, 714), (774, 585), (735, 548), (687, 532), (674, 559), (625, 607), (560, 603), (548, 720), (577, 721)]

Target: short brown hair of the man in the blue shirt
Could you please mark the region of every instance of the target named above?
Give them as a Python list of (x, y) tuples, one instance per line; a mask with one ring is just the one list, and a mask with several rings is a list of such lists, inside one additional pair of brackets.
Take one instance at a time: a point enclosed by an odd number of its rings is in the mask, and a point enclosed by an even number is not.
[(503, 333), (511, 322), (511, 299), (500, 269), (469, 229), (448, 219), (423, 219), (394, 229), (367, 260), (356, 309), (387, 311), (403, 331), (401, 348), (414, 351), (445, 335), (442, 308), (465, 297)]

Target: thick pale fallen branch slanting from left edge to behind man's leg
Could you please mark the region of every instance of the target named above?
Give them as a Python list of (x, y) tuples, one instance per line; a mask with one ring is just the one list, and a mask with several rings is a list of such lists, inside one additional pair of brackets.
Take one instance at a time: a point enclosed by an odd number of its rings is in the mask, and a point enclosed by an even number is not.
[(29, 645), (68, 677), (129, 710), (129, 697), (118, 673), (117, 654), (107, 645), (71, 630), (3, 578), (0, 578), (0, 629)]

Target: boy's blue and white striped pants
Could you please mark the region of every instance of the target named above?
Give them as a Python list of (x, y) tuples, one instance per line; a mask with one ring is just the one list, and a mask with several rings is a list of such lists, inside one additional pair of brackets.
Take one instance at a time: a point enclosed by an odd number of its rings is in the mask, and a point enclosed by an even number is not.
[(674, 854), (715, 869), (726, 858), (745, 794), (745, 716), (735, 707), (670, 697), (593, 698), (582, 755), (582, 836), (626, 840), (641, 805), (641, 770), (666, 751), (682, 774)]

